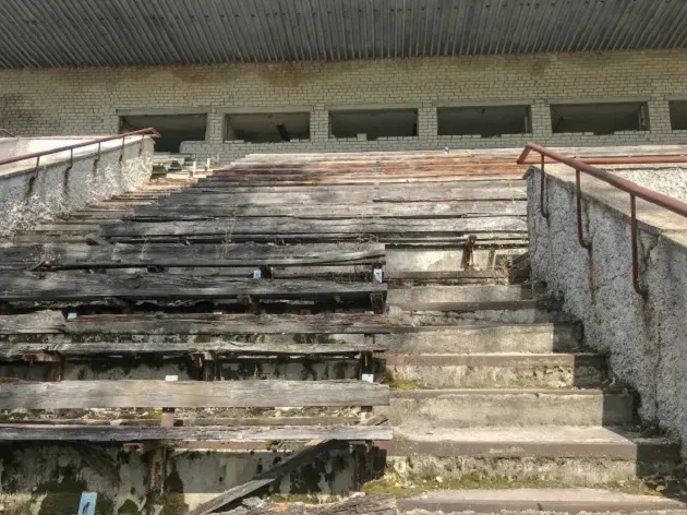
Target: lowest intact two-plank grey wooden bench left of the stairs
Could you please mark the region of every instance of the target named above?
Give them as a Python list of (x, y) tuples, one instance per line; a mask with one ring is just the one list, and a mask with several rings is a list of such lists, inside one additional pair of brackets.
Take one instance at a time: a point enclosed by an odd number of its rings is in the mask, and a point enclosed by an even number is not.
[[(385, 406), (388, 386), (363, 381), (61, 381), (0, 383), (0, 409)], [(165, 419), (162, 419), (165, 420)], [(288, 420), (288, 419), (287, 419)], [(288, 424), (288, 422), (286, 422)], [(0, 440), (388, 440), (385, 427), (130, 427), (0, 423)]]

